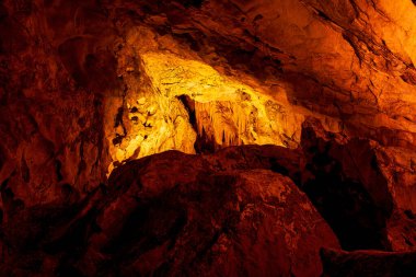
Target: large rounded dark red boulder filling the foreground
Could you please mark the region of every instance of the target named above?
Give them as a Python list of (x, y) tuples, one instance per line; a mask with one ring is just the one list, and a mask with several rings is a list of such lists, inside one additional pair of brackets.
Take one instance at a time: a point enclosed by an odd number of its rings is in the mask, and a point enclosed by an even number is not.
[(3, 226), (0, 272), (319, 276), (319, 250), (337, 239), (289, 177), (266, 170), (291, 175), (299, 162), (271, 146), (131, 161), (82, 203), (18, 211)]

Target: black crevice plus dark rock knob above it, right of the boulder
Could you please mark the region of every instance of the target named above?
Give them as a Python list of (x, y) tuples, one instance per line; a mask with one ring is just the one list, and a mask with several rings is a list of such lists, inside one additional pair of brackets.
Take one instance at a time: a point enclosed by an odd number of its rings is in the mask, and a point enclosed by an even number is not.
[[(385, 230), (389, 199), (374, 198), (368, 185), (357, 176), (346, 175), (345, 164), (357, 168), (353, 157), (346, 154), (350, 145), (338, 148), (334, 142), (316, 138), (309, 128), (302, 131), (302, 143), (308, 155), (307, 169), (313, 175), (302, 184), (302, 189), (332, 227), (343, 249), (390, 250)], [(355, 147), (358, 151), (361, 145)], [(377, 169), (377, 162), (370, 158), (368, 169), (360, 170), (375, 172)]]

